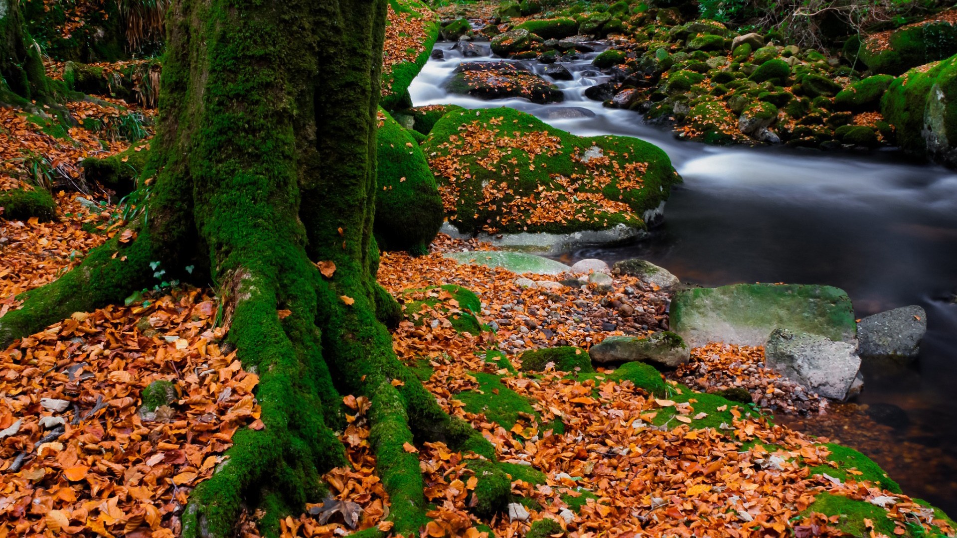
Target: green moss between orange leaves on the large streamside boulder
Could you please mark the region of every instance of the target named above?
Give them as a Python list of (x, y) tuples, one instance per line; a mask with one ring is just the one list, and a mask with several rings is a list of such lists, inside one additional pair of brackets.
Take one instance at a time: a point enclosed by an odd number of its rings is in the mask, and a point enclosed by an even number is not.
[[(461, 131), (470, 127), (479, 132), (494, 133), (499, 143), (496, 150), (503, 151), (508, 158), (502, 159), (498, 166), (486, 168), (481, 163), (491, 146), (470, 145), (469, 152), (457, 158), (460, 169), (452, 173), (438, 172), (442, 174), (437, 178), (440, 187), (455, 189), (456, 208), (450, 212), (449, 222), (463, 233), (495, 229), (505, 233), (566, 234), (604, 230), (617, 224), (643, 228), (644, 222), (638, 215), (657, 208), (667, 199), (671, 186), (680, 181), (668, 156), (656, 146), (629, 137), (578, 137), (510, 108), (451, 113), (435, 124), (422, 149), (431, 160), (461, 152), (466, 147)], [(550, 154), (542, 152), (544, 148), (523, 143), (523, 139), (529, 136), (540, 136), (537, 133), (545, 133), (556, 145)], [(502, 146), (507, 144), (514, 147)], [(600, 149), (611, 163), (583, 163), (581, 157), (592, 146)], [(619, 187), (614, 174), (607, 185), (597, 185), (592, 181), (596, 169), (609, 169), (609, 165), (615, 164), (618, 168), (646, 166), (643, 173), (634, 172), (641, 179), (640, 187)], [(503, 168), (510, 173), (502, 175)], [(463, 172), (468, 172), (471, 177), (461, 177)], [(568, 188), (558, 182), (559, 176), (581, 177), (577, 192), (600, 193), (608, 200), (628, 204), (632, 212), (606, 212), (582, 196), (572, 199)], [(490, 203), (485, 199), (488, 190), (498, 192), (501, 198)], [(573, 203), (578, 209), (577, 216), (536, 222), (530, 214), (538, 209), (538, 203), (525, 202), (522, 206), (512, 203), (520, 197), (541, 196), (543, 192), (554, 192), (558, 200)]]

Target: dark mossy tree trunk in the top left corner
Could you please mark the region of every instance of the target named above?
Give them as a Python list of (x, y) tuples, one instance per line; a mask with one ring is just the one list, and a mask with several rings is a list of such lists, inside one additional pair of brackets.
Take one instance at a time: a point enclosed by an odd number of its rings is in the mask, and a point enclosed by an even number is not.
[(40, 51), (24, 28), (21, 0), (0, 0), (0, 105), (21, 108), (51, 97)]

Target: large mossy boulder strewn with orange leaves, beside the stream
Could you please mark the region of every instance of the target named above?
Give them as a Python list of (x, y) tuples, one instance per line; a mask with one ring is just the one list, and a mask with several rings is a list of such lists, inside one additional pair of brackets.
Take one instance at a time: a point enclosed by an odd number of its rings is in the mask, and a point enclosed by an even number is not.
[(575, 136), (511, 108), (449, 114), (422, 148), (466, 234), (642, 229), (680, 181), (657, 146)]

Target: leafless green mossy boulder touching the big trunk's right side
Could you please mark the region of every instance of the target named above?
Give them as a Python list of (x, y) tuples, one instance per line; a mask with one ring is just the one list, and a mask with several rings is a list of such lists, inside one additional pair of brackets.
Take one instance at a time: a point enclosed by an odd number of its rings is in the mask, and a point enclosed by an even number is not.
[(383, 250), (424, 254), (442, 226), (429, 163), (402, 125), (379, 109), (374, 233)]

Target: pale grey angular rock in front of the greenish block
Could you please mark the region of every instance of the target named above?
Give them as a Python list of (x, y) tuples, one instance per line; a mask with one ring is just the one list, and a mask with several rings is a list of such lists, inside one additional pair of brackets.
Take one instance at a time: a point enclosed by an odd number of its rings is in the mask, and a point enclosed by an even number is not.
[(845, 400), (860, 372), (856, 350), (852, 343), (778, 328), (765, 344), (765, 365), (824, 397)]

